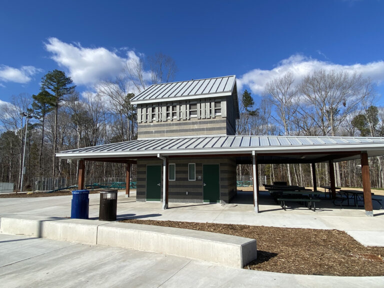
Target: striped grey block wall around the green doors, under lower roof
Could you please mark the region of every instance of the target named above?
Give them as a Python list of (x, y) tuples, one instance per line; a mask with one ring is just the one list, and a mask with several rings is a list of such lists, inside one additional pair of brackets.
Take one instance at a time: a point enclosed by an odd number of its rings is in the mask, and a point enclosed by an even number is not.
[[(169, 202), (202, 202), (203, 164), (218, 164), (220, 171), (220, 203), (228, 203), (236, 194), (236, 161), (233, 157), (227, 158), (204, 158), (204, 157), (185, 157), (170, 158), (169, 163), (175, 164), (175, 180), (168, 181), (168, 201)], [(196, 165), (195, 181), (188, 180), (188, 163)], [(162, 165), (160, 159), (138, 159), (137, 160), (137, 190), (136, 200), (145, 201), (146, 192), (146, 165)], [(162, 169), (161, 169), (162, 179)], [(162, 189), (162, 185), (161, 185)], [(188, 192), (188, 194), (186, 194)], [(162, 191), (161, 191), (162, 200)]]

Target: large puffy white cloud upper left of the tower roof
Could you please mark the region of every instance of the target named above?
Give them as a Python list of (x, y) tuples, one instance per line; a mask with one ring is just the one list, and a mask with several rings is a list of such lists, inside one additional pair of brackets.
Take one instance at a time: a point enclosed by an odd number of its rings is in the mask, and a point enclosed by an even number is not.
[(124, 66), (139, 60), (132, 50), (126, 52), (126, 58), (104, 47), (85, 48), (80, 43), (69, 44), (57, 38), (48, 38), (45, 49), (51, 52), (52, 59), (69, 71), (76, 84), (94, 84), (98, 80), (114, 78)]

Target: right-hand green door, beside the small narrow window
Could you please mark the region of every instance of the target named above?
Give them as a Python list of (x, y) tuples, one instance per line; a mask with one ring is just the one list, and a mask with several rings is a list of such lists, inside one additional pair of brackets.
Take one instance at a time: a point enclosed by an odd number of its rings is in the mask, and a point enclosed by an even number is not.
[(202, 166), (203, 202), (217, 203), (220, 201), (220, 173), (218, 164)]

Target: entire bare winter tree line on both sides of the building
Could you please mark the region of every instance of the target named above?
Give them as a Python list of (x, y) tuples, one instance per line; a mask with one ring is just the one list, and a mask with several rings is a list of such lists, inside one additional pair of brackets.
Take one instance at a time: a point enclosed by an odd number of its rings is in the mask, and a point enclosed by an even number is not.
[[(58, 151), (137, 138), (134, 93), (152, 83), (173, 80), (176, 65), (163, 54), (126, 64), (114, 79), (95, 83), (95, 92), (79, 95), (72, 79), (53, 70), (41, 78), (40, 91), (13, 96), (1, 109), (0, 181), (20, 188), (25, 144), (25, 187), (33, 177), (76, 176), (77, 162), (57, 159)], [(302, 79), (289, 72), (269, 81), (261, 96), (244, 90), (239, 97), (240, 135), (382, 136), (384, 112), (374, 105), (375, 86), (361, 74), (316, 70)], [(25, 138), (25, 120), (33, 114)], [(370, 159), (371, 181), (384, 185), (381, 157)], [(86, 171), (97, 176), (124, 175), (118, 163), (86, 161)], [(359, 160), (335, 163), (336, 185), (361, 186)], [(318, 185), (328, 184), (327, 163), (316, 164)], [(250, 166), (239, 165), (238, 175), (251, 175)], [(260, 181), (287, 180), (310, 186), (309, 164), (263, 164)]]

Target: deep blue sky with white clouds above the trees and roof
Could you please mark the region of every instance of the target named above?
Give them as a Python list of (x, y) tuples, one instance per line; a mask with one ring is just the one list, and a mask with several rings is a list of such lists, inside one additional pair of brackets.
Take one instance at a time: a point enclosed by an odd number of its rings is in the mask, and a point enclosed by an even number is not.
[(384, 99), (384, 1), (19, 1), (0, 8), (0, 103), (35, 94), (64, 70), (78, 90), (161, 52), (174, 80), (236, 74), (253, 95), (273, 77), (317, 68), (361, 72)]

